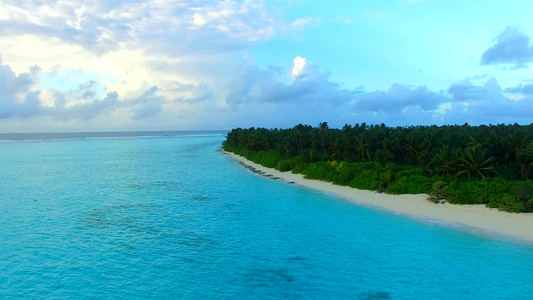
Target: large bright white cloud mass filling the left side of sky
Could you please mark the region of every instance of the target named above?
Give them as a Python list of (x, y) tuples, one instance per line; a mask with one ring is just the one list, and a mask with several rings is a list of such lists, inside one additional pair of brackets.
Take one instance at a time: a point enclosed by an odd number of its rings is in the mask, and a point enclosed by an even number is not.
[(198, 125), (176, 116), (196, 119), (193, 112), (227, 107), (227, 86), (235, 66), (246, 63), (244, 49), (311, 23), (276, 18), (262, 1), (6, 0), (2, 67), (19, 81), (29, 76), (29, 62), (43, 72), (0, 100), (2, 118), (31, 117), (46, 124), (39, 128), (90, 127), (97, 119), (115, 128), (112, 122), (153, 127), (143, 120), (156, 117), (166, 126)]

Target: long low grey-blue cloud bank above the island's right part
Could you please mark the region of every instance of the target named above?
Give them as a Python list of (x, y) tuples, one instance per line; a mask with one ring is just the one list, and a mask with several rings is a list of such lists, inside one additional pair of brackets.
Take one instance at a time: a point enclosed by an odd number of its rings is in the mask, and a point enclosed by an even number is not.
[[(524, 87), (519, 86), (520, 92), (529, 91), (529, 86)], [(494, 78), (483, 85), (469, 80), (454, 82), (447, 92), (438, 93), (426, 86), (410, 88), (396, 83), (388, 91), (363, 93), (355, 99), (355, 119), (392, 126), (531, 123), (533, 111), (532, 96), (507, 97)]]

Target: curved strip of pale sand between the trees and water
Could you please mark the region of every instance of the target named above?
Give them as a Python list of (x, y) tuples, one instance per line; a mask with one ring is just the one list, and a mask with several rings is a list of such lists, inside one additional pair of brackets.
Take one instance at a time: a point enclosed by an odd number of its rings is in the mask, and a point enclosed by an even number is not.
[(426, 200), (428, 195), (425, 194), (388, 195), (357, 190), (329, 182), (305, 179), (300, 174), (279, 172), (255, 164), (239, 155), (224, 153), (264, 176), (334, 194), (359, 205), (387, 210), (423, 222), (449, 226), (490, 238), (533, 243), (533, 214), (501, 212), (485, 205), (435, 204)]

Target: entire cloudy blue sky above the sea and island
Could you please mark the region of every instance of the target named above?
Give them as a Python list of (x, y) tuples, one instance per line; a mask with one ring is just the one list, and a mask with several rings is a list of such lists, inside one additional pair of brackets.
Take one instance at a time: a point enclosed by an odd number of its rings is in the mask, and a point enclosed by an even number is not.
[(0, 2), (0, 132), (533, 123), (531, 0)]

